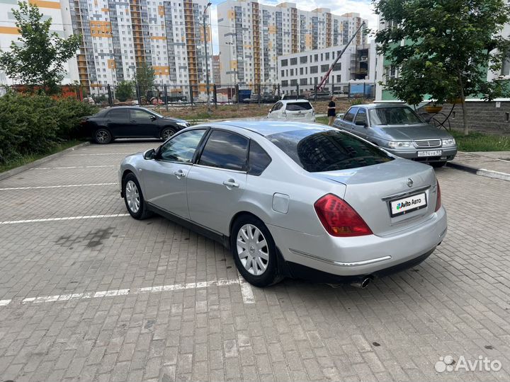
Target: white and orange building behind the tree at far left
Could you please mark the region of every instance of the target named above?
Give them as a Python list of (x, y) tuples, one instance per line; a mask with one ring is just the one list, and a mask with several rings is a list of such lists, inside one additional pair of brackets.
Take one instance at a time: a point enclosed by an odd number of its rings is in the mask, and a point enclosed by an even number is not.
[[(73, 34), (71, 28), (71, 17), (69, 13), (69, 2), (58, 0), (30, 0), (30, 4), (35, 4), (40, 8), (44, 15), (42, 20), (52, 19), (50, 30), (57, 33), (60, 37), (69, 37)], [(0, 50), (9, 50), (11, 42), (20, 37), (16, 20), (13, 16), (13, 9), (18, 8), (16, 0), (0, 0)], [(62, 83), (72, 83), (78, 80), (77, 59), (71, 59), (64, 65), (64, 79)], [(0, 83), (11, 85), (13, 80), (0, 71)]]

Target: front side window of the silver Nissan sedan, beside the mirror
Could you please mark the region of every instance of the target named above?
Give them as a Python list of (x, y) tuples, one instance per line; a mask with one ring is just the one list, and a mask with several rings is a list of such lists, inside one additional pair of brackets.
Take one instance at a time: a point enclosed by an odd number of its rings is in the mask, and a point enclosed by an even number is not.
[(204, 133), (205, 129), (196, 129), (176, 135), (162, 146), (158, 157), (163, 161), (191, 163)]

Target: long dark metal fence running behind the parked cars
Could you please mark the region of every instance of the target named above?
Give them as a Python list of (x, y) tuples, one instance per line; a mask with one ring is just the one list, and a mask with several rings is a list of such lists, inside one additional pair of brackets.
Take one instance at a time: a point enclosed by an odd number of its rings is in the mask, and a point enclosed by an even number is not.
[[(8, 89), (13, 91), (43, 91), (38, 86), (0, 86), (0, 96)], [(317, 91), (316, 86), (300, 86), (280, 83), (244, 84), (205, 84), (187, 85), (154, 85), (144, 86), (137, 83), (120, 85), (63, 85), (60, 87), (62, 96), (72, 96), (84, 102), (100, 106), (115, 105), (231, 105), (239, 103), (275, 103), (281, 98), (305, 98), (309, 100), (325, 100), (331, 95), (339, 98), (373, 98), (373, 83), (331, 83)]]

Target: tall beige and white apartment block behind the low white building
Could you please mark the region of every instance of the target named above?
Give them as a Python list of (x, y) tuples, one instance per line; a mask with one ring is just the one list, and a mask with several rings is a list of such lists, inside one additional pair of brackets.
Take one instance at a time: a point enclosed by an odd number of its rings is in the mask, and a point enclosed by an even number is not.
[[(346, 44), (363, 21), (328, 8), (302, 11), (293, 3), (227, 0), (217, 6), (222, 83), (275, 83), (278, 57)], [(356, 44), (367, 42), (364, 33)]]

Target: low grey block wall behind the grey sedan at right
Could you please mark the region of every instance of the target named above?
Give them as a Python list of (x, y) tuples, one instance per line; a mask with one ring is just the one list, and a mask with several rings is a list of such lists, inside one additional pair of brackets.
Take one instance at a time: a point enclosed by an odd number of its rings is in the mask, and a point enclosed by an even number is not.
[[(452, 104), (443, 105), (441, 113), (448, 115)], [(470, 101), (466, 102), (467, 123), (471, 131), (510, 134), (510, 100), (504, 101)], [(418, 110), (425, 112), (424, 108)], [(443, 115), (436, 116), (443, 120)], [(450, 125), (454, 129), (463, 129), (462, 105), (457, 104), (449, 118)]]

